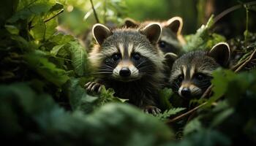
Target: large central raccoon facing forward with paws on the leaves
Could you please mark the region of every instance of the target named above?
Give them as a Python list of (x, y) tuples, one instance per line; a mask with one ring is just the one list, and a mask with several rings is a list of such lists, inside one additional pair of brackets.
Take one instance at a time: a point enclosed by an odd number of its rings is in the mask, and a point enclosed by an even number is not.
[(97, 80), (88, 82), (86, 90), (100, 91), (101, 85), (105, 85), (145, 112), (160, 112), (155, 106), (164, 79), (164, 55), (157, 48), (161, 26), (149, 23), (140, 29), (110, 30), (95, 24), (92, 31), (97, 45), (89, 53), (89, 61)]

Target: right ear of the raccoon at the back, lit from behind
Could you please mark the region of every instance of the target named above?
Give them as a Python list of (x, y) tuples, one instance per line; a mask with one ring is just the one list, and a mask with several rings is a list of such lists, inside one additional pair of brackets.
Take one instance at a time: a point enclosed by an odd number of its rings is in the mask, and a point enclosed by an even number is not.
[(181, 29), (183, 27), (183, 20), (180, 17), (173, 17), (167, 20), (166, 23), (163, 23), (163, 26), (170, 28), (175, 34), (181, 34)]

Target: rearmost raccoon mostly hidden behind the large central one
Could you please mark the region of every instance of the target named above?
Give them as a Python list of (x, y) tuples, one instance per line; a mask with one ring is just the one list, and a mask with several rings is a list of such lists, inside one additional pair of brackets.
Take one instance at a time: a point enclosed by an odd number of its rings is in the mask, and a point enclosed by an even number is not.
[[(152, 23), (152, 21), (145, 21), (138, 23), (131, 18), (125, 20), (125, 26), (127, 28), (138, 28)], [(162, 35), (159, 39), (158, 46), (164, 53), (175, 53), (180, 55), (182, 53), (182, 45), (185, 44), (184, 38), (181, 35), (181, 29), (183, 27), (183, 20), (180, 17), (173, 17), (167, 21), (162, 21)]]

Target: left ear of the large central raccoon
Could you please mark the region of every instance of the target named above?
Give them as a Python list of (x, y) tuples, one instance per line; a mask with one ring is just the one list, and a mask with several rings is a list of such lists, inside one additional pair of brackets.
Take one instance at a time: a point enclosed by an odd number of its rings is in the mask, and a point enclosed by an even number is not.
[(107, 39), (107, 37), (110, 37), (113, 33), (108, 27), (97, 23), (94, 24), (94, 27), (92, 28), (92, 34), (94, 35), (94, 39), (96, 39), (97, 43), (102, 45), (104, 40)]

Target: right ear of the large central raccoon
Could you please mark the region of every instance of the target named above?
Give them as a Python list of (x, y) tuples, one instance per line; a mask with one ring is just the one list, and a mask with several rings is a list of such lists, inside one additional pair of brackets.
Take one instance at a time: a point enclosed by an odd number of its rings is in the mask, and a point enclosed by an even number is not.
[(157, 44), (161, 33), (162, 27), (159, 23), (149, 23), (146, 27), (140, 29), (140, 33), (146, 35), (151, 44)]

